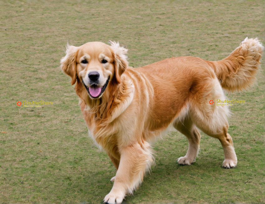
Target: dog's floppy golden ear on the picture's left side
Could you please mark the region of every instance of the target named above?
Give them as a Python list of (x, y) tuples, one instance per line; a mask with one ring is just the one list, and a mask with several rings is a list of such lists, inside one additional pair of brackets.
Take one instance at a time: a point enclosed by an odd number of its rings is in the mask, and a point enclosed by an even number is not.
[(71, 76), (71, 84), (74, 85), (76, 81), (76, 56), (78, 47), (69, 45), (66, 46), (66, 55), (60, 61), (61, 70), (63, 70), (67, 75)]

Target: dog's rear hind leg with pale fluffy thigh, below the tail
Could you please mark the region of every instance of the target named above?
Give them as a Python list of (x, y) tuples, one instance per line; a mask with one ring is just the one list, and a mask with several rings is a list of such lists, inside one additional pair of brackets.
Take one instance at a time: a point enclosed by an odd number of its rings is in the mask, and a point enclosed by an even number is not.
[(209, 100), (225, 100), (219, 83), (213, 84), (213, 91), (190, 106), (190, 117), (196, 126), (205, 134), (219, 139), (224, 150), (223, 167), (230, 169), (237, 165), (232, 137), (227, 133), (229, 108), (226, 104), (209, 104)]

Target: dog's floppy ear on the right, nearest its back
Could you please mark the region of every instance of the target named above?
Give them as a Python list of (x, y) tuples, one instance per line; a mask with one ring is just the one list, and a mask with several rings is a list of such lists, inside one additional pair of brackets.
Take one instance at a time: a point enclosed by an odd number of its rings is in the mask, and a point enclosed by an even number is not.
[(121, 75), (128, 67), (127, 54), (128, 49), (121, 47), (119, 42), (108, 41), (111, 44), (111, 48), (113, 50), (113, 59), (114, 59), (114, 70), (115, 77), (118, 83), (121, 83)]

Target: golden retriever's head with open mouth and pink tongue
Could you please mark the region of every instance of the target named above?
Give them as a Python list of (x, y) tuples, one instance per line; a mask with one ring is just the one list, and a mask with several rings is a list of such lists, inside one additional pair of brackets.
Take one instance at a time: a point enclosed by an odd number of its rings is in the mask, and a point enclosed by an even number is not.
[(121, 83), (121, 75), (128, 67), (127, 49), (109, 41), (89, 42), (80, 47), (67, 44), (66, 55), (61, 59), (61, 69), (71, 76), (72, 85), (81, 81), (91, 99), (98, 99), (109, 81)]

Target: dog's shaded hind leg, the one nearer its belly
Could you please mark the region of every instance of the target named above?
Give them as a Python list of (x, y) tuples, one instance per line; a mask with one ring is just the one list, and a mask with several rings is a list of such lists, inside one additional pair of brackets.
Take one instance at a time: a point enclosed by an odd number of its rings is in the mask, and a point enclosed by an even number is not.
[(195, 162), (200, 148), (200, 132), (187, 116), (182, 122), (175, 122), (173, 124), (179, 132), (185, 135), (189, 141), (189, 148), (185, 156), (178, 158), (180, 165), (191, 165)]

